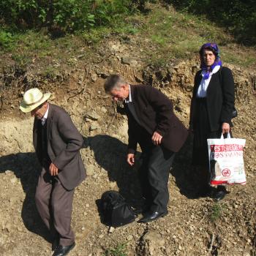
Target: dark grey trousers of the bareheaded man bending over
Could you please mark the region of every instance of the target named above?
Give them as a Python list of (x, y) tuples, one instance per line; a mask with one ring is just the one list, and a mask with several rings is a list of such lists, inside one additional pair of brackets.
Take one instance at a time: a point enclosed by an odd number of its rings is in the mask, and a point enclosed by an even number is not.
[(168, 179), (175, 153), (162, 146), (143, 151), (138, 174), (143, 197), (151, 211), (167, 211), (169, 200)]

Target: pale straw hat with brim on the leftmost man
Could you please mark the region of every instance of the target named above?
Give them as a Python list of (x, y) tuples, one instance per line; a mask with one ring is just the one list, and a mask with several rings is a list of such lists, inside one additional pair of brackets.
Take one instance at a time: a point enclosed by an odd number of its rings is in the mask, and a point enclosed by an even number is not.
[(20, 110), (24, 113), (28, 113), (37, 108), (49, 98), (50, 92), (42, 94), (42, 91), (37, 88), (29, 89), (23, 95), (23, 101), (20, 103)]

